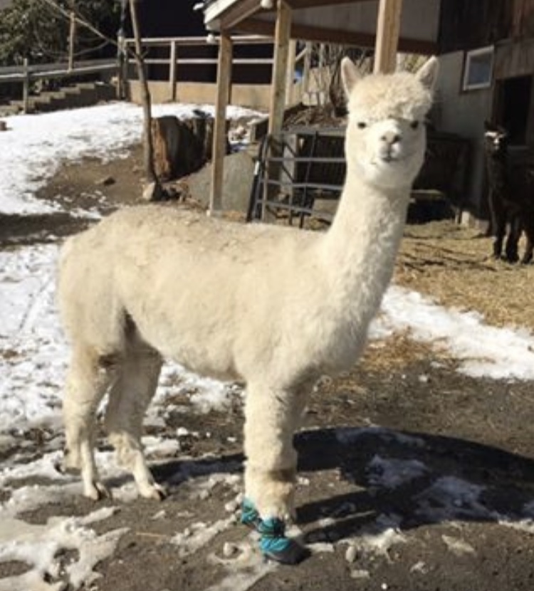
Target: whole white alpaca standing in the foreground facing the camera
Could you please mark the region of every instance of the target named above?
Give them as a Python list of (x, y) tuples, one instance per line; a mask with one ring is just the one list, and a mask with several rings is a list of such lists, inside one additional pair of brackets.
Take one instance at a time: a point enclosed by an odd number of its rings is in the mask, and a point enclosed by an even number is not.
[(360, 79), (345, 59), (347, 179), (326, 233), (231, 224), (164, 206), (113, 214), (63, 248), (59, 302), (73, 352), (66, 466), (85, 495), (105, 392), (110, 442), (142, 496), (159, 498), (140, 445), (162, 358), (246, 382), (246, 497), (261, 519), (293, 511), (293, 433), (320, 375), (352, 366), (392, 276), (437, 63)]

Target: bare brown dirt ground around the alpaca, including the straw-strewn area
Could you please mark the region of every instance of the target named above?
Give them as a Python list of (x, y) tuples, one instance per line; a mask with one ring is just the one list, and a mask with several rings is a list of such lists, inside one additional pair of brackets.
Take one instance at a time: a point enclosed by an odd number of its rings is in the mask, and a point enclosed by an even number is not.
[[(63, 167), (40, 197), (73, 208), (98, 205), (107, 212), (137, 200), (139, 179), (135, 152), (110, 164)], [(65, 214), (1, 219), (0, 244), (47, 241), (51, 234), (65, 236), (87, 223)], [(395, 281), (445, 305), (478, 310), (489, 323), (534, 330), (534, 266), (508, 266), (488, 258), (490, 252), (490, 240), (476, 229), (451, 221), (409, 225)], [(351, 372), (321, 382), (310, 399), (307, 425), (296, 437), (298, 525), (318, 551), (297, 567), (268, 568), (252, 585), (254, 572), (241, 572), (248, 584), (240, 583), (224, 558), (228, 544), (248, 537), (243, 526), (224, 528), (186, 555), (170, 543), (196, 521), (228, 517), (225, 505), (235, 497), (228, 481), (216, 483), (199, 500), (183, 474), (241, 475), (241, 410), (236, 404), (227, 412), (188, 417), (187, 428), (199, 436), (187, 441), (187, 461), (177, 454), (154, 468), (169, 488), (168, 498), (160, 504), (125, 503), (114, 516), (95, 524), (99, 531), (123, 526), (129, 531), (114, 557), (98, 565), (102, 577), (91, 589), (534, 590), (534, 528), (523, 527), (520, 519), (521, 508), (534, 501), (532, 383), (466, 377), (456, 372), (454, 359), (409, 335), (373, 343)], [(174, 432), (179, 420), (183, 417), (169, 412), (159, 432)], [(367, 429), (372, 426), (379, 428)], [(204, 436), (206, 432), (211, 436)], [(40, 445), (36, 437), (35, 453)], [(375, 486), (384, 469), (373, 464), (375, 456), (419, 462), (426, 469), (397, 488)], [(377, 466), (376, 473), (370, 466)], [(471, 488), (449, 502), (432, 493), (433, 485), (446, 479)], [(476, 490), (483, 493), (475, 499), (471, 493)], [(117, 503), (103, 501), (106, 505)], [(51, 514), (93, 510), (94, 504), (80, 497), (25, 518), (43, 523)], [(164, 518), (155, 519), (159, 511)], [(382, 523), (378, 516), (385, 520), (384, 528), (396, 524), (398, 538), (372, 551), (358, 539), (365, 537), (366, 528), (377, 533), (377, 523)], [(355, 548), (354, 555), (347, 548)], [(0, 565), (0, 577), (5, 569)]]

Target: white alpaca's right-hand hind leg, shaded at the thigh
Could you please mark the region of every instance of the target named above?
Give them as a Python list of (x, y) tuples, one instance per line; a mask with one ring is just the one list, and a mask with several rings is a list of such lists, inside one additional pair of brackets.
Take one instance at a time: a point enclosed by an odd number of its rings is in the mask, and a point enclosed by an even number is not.
[(111, 389), (105, 417), (119, 464), (132, 473), (141, 496), (157, 500), (164, 498), (165, 491), (147, 466), (141, 434), (143, 417), (155, 394), (161, 367), (161, 357), (147, 345), (130, 348)]

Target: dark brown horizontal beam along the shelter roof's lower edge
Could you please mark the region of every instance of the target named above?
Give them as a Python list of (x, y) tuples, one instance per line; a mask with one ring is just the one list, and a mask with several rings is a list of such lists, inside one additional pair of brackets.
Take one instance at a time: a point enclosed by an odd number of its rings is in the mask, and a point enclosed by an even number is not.
[[(273, 36), (274, 23), (260, 19), (246, 19), (239, 23), (236, 31), (251, 33), (254, 35)], [(370, 33), (358, 33), (357, 31), (343, 31), (342, 29), (323, 28), (318, 26), (291, 25), (291, 38), (302, 41), (317, 41), (321, 43), (339, 43), (352, 47), (373, 48), (376, 43), (376, 35)], [(438, 51), (435, 41), (422, 41), (421, 39), (399, 39), (399, 51), (406, 53), (422, 53), (426, 56), (434, 55)]]

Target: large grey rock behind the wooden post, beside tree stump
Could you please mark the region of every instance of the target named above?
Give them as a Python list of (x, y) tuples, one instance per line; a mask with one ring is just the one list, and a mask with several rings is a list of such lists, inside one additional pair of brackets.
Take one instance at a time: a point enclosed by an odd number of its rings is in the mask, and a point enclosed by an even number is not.
[[(236, 152), (224, 158), (222, 205), (224, 211), (246, 213), (251, 196), (254, 161), (248, 152)], [(209, 206), (211, 163), (187, 179), (189, 194), (204, 206)]]

